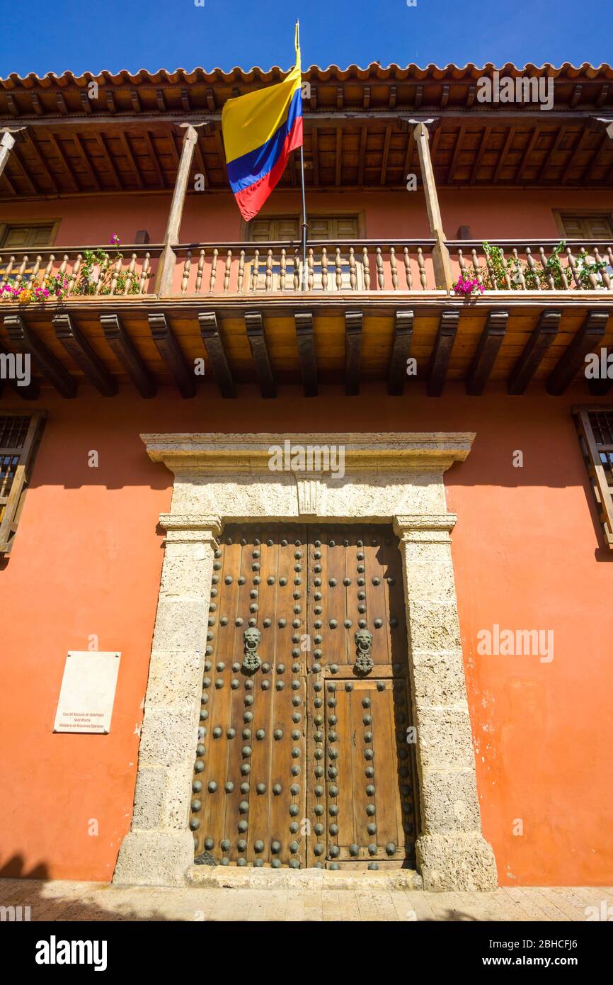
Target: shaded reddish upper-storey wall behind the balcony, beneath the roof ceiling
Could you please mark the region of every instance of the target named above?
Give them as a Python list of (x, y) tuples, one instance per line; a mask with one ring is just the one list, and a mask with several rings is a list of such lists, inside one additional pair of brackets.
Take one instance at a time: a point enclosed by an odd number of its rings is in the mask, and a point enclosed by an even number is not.
[[(448, 238), (454, 239), (460, 226), (469, 226), (475, 239), (497, 237), (556, 238), (558, 230), (553, 209), (613, 211), (613, 192), (577, 191), (442, 191), (441, 212)], [(124, 243), (132, 243), (137, 230), (146, 229), (151, 242), (160, 242), (170, 205), (169, 195), (83, 196), (0, 205), (0, 223), (61, 219), (57, 246), (108, 243), (118, 233)], [(366, 236), (371, 239), (428, 236), (423, 194), (417, 192), (353, 193), (310, 192), (307, 207), (312, 212), (365, 213)], [(299, 195), (277, 191), (262, 215), (298, 214)], [(188, 195), (182, 242), (222, 243), (241, 238), (240, 215), (231, 195)]]

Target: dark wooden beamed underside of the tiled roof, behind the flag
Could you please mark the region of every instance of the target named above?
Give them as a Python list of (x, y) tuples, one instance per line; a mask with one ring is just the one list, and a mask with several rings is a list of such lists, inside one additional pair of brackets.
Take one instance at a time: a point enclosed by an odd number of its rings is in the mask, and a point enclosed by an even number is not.
[[(492, 67), (312, 67), (305, 99), (305, 167), (309, 187), (403, 188), (419, 174), (411, 127), (434, 116), (431, 153), (437, 183), (474, 187), (606, 188), (613, 179), (613, 141), (599, 118), (613, 119), (613, 70), (504, 66), (501, 77), (555, 79), (552, 112), (536, 105), (483, 104), (477, 80)], [(282, 72), (71, 73), (0, 80), (0, 125), (27, 126), (4, 175), (0, 197), (113, 191), (167, 191), (176, 177), (182, 120), (207, 122), (193, 173), (210, 191), (227, 189), (220, 134), (226, 99), (278, 82)], [(92, 89), (92, 84), (95, 89)], [(288, 167), (281, 186), (292, 187)]]

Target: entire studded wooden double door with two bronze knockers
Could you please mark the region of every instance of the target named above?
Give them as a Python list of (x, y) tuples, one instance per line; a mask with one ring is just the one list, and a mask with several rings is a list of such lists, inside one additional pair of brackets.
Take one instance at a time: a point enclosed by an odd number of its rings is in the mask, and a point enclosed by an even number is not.
[(196, 861), (412, 867), (413, 753), (392, 529), (226, 526), (193, 778)]

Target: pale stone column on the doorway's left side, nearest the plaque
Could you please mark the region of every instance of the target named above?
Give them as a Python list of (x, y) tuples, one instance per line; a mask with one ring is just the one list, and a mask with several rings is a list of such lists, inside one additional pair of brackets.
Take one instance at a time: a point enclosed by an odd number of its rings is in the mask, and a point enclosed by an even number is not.
[(218, 516), (163, 513), (165, 553), (141, 734), (134, 814), (113, 882), (184, 885), (194, 861), (187, 821)]

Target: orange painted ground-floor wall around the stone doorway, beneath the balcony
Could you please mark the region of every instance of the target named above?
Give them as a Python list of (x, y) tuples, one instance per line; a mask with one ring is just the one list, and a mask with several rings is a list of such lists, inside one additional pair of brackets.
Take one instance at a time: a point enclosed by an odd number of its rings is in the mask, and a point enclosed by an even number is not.
[[(475, 430), (447, 474), (468, 701), (483, 829), (503, 886), (613, 883), (613, 555), (598, 549), (570, 407), (562, 399), (458, 386), (427, 400), (364, 386), (347, 400), (281, 388), (263, 402), (206, 388), (193, 401), (162, 390), (78, 401), (46, 395), (48, 424), (13, 554), (0, 570), (0, 852), (5, 874), (110, 879), (130, 823), (139, 729), (162, 560), (159, 512), (171, 476), (141, 431)], [(99, 468), (88, 467), (96, 449)], [(521, 449), (522, 469), (512, 456)], [(551, 663), (480, 657), (494, 624), (554, 631)], [(66, 651), (120, 649), (108, 736), (54, 735)], [(98, 823), (89, 834), (91, 820)], [(523, 834), (514, 834), (517, 819)]]

